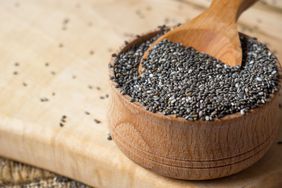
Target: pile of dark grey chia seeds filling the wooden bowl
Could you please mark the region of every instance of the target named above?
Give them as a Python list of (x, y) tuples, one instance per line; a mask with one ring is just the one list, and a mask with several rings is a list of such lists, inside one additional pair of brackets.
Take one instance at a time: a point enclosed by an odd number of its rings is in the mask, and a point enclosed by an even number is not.
[(277, 58), (266, 45), (243, 34), (241, 67), (165, 40), (152, 49), (138, 75), (144, 52), (165, 32), (162, 28), (159, 35), (119, 54), (111, 67), (111, 79), (121, 93), (148, 111), (210, 121), (236, 112), (244, 115), (278, 91)]

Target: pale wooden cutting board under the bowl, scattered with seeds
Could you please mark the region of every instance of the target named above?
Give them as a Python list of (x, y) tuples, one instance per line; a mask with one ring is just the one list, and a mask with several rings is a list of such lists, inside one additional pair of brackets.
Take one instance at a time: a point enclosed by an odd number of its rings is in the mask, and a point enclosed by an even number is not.
[[(110, 54), (134, 34), (174, 25), (207, 6), (195, 2), (0, 1), (0, 155), (96, 187), (281, 186), (277, 143), (237, 175), (196, 182), (145, 170), (107, 140)], [(280, 9), (258, 4), (241, 20), (241, 31), (282, 59)]]

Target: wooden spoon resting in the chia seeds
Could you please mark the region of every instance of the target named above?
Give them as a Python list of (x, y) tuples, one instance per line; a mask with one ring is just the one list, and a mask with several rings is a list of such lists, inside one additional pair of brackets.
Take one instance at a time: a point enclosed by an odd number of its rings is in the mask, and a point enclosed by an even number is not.
[[(191, 21), (161, 36), (144, 53), (164, 39), (192, 46), (230, 66), (241, 65), (242, 49), (237, 31), (237, 20), (244, 10), (257, 0), (213, 0), (211, 6)], [(142, 63), (139, 65), (139, 73)]]

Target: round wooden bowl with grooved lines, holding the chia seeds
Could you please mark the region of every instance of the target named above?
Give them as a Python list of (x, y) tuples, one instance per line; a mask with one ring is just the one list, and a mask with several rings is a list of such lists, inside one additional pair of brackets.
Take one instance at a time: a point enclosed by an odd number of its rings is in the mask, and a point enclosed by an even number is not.
[[(156, 34), (133, 40), (119, 53)], [(258, 161), (278, 132), (278, 92), (244, 116), (237, 113), (215, 121), (188, 121), (149, 112), (130, 102), (115, 85), (111, 81), (109, 126), (113, 140), (128, 158), (163, 176), (207, 180), (237, 173)]]

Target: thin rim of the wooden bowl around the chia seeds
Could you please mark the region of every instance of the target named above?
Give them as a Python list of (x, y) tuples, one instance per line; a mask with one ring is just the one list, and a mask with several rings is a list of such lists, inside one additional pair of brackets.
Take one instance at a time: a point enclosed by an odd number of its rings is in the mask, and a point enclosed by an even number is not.
[[(117, 56), (123, 52), (126, 52), (127, 50), (129, 50), (130, 48), (132, 48), (133, 46), (135, 45), (138, 45), (140, 43), (142, 43), (143, 41), (149, 39), (149, 38), (152, 38), (153, 36), (157, 35), (158, 33), (160, 33), (161, 30), (160, 29), (156, 29), (156, 30), (153, 30), (153, 31), (149, 31), (149, 32), (146, 32), (146, 33), (142, 33), (141, 35), (136, 35), (135, 37), (132, 37), (130, 39), (129, 42), (126, 42), (125, 44), (123, 44), (118, 50), (116, 50), (116, 56), (112, 56), (111, 57), (111, 60), (110, 60), (110, 63), (109, 65), (112, 67), (112, 68), (109, 68), (109, 78), (113, 77), (114, 76), (114, 64), (116, 62), (116, 59), (117, 59)], [(240, 33), (240, 34), (243, 34), (245, 36), (248, 36), (244, 33)], [(249, 36), (248, 36), (249, 37)], [(269, 49), (270, 50), (270, 49)], [(205, 125), (205, 124), (219, 124), (222, 126), (222, 122), (231, 122), (231, 121), (234, 121), (234, 120), (238, 120), (242, 117), (245, 117), (245, 116), (248, 116), (249, 114), (254, 114), (256, 112), (260, 112), (263, 108), (267, 107), (267, 106), (270, 106), (273, 102), (275, 102), (276, 98), (278, 96), (281, 95), (281, 80), (282, 80), (282, 77), (281, 77), (281, 74), (282, 74), (282, 68), (281, 68), (281, 64), (277, 58), (277, 64), (278, 64), (278, 90), (275, 91), (273, 94), (270, 94), (270, 100), (267, 100), (264, 104), (260, 104), (258, 105), (257, 107), (253, 108), (253, 109), (250, 109), (245, 115), (241, 115), (240, 112), (236, 112), (236, 113), (233, 113), (233, 114), (227, 114), (225, 116), (223, 116), (222, 118), (216, 118), (216, 119), (213, 119), (211, 121), (205, 121), (205, 120), (186, 120), (184, 117), (176, 117), (175, 115), (164, 115), (162, 114), (161, 112), (151, 112), (151, 111), (148, 111), (146, 110), (146, 108), (139, 102), (131, 102), (130, 99), (131, 97), (129, 95), (122, 95), (121, 94), (121, 90), (120, 88), (117, 88), (117, 83), (115, 81), (113, 81), (112, 79), (109, 79), (110, 80), (110, 85), (111, 85), (111, 89), (115, 92), (115, 94), (117, 94), (118, 98), (119, 99), (123, 99), (130, 107), (133, 107), (135, 109), (138, 109), (138, 111), (142, 112), (143, 114), (146, 114), (148, 116), (152, 116), (156, 119), (162, 119), (162, 120), (168, 120), (168, 121), (174, 121), (174, 122), (177, 122), (177, 123), (181, 123), (181, 124), (187, 124), (187, 125)]]

